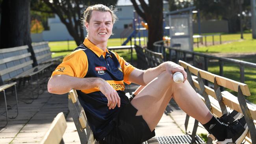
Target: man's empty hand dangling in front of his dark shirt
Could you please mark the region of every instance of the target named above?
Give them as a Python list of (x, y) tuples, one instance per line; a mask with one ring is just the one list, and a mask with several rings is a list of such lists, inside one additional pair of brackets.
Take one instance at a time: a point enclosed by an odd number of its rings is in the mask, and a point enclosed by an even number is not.
[(108, 109), (114, 109), (116, 106), (120, 107), (120, 97), (117, 94), (117, 91), (113, 89), (109, 83), (103, 80), (98, 86), (98, 89), (108, 99)]

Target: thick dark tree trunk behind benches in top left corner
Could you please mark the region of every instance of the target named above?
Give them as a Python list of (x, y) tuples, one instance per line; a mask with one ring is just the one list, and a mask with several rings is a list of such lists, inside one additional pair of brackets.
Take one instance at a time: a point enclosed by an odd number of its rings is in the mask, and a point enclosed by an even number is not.
[(3, 0), (0, 48), (31, 46), (30, 0)]

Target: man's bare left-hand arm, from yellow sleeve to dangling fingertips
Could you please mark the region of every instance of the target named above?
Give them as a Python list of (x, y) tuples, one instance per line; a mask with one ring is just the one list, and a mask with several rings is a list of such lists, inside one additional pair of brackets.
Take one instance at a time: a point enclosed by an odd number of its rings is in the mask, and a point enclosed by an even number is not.
[(48, 81), (48, 92), (65, 94), (71, 89), (83, 90), (97, 87), (108, 99), (109, 109), (120, 107), (120, 97), (117, 91), (102, 78), (76, 78), (68, 75), (55, 75)]

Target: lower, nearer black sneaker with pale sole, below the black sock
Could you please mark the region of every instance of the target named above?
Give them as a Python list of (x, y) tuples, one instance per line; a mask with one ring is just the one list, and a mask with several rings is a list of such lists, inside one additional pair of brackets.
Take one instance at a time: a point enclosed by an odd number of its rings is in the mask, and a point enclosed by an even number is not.
[(232, 122), (227, 126), (227, 136), (223, 141), (216, 141), (216, 144), (241, 144), (248, 133), (248, 126), (245, 117)]

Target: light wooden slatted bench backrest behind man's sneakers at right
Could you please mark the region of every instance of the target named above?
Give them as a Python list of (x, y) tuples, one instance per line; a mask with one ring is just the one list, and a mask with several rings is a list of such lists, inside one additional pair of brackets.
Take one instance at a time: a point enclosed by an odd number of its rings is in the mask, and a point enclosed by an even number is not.
[[(249, 127), (249, 133), (245, 140), (249, 143), (256, 143), (256, 107), (246, 103), (245, 96), (250, 96), (249, 87), (232, 79), (224, 78), (210, 72), (196, 68), (184, 61), (180, 65), (187, 70), (187, 80), (198, 92), (198, 96), (206, 103), (206, 106), (217, 117), (227, 113), (227, 109), (243, 113)], [(192, 74), (197, 79), (192, 78)], [(204, 85), (204, 81), (213, 83), (213, 89)], [(228, 91), (221, 92), (220, 87), (238, 92), (237, 97)]]

